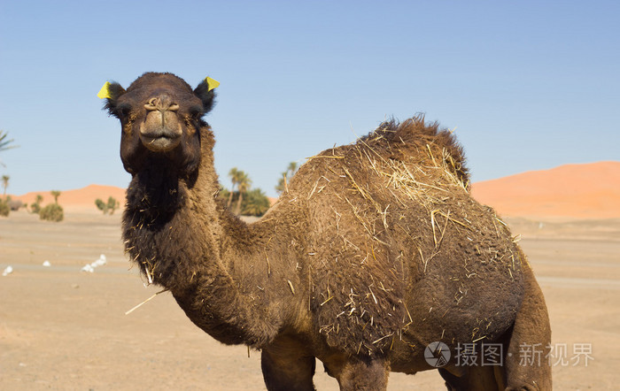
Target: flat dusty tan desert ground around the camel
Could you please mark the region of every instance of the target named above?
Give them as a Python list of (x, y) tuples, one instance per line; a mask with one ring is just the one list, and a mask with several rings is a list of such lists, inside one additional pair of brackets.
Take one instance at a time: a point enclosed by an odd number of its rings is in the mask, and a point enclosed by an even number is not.
[[(617, 389), (620, 383), (620, 220), (509, 220), (549, 307), (555, 389)], [(83, 265), (105, 254), (94, 273)], [(43, 267), (49, 260), (51, 267)], [(120, 217), (67, 213), (39, 221), (25, 211), (0, 219), (0, 389), (264, 389), (260, 353), (213, 341), (165, 293), (128, 270)], [(585, 344), (585, 345), (583, 345)], [(574, 349), (592, 359), (579, 363)], [(575, 364), (573, 366), (573, 364)], [(319, 390), (337, 382), (317, 365)], [(437, 372), (392, 374), (389, 389), (442, 390)]]

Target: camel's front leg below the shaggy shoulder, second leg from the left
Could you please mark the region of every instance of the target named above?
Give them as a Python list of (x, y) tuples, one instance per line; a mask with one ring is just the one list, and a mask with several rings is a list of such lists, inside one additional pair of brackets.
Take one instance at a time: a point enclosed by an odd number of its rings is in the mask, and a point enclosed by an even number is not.
[(384, 360), (350, 357), (335, 375), (341, 391), (380, 391), (387, 389), (389, 374), (389, 365)]

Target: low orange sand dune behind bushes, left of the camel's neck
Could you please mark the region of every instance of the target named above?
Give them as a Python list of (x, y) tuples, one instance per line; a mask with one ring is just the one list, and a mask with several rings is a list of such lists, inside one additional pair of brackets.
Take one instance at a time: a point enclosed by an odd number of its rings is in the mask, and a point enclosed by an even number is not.
[[(54, 197), (50, 191), (33, 191), (23, 196), (12, 196), (13, 199), (21, 200), (28, 205), (35, 202), (36, 195), (43, 196), (42, 205), (54, 202)], [(120, 205), (125, 203), (125, 189), (114, 186), (89, 185), (86, 188), (78, 188), (76, 190), (63, 190), (58, 197), (58, 203), (65, 210), (92, 210), (97, 211), (95, 200), (101, 198), (107, 201), (108, 197), (116, 198)]]

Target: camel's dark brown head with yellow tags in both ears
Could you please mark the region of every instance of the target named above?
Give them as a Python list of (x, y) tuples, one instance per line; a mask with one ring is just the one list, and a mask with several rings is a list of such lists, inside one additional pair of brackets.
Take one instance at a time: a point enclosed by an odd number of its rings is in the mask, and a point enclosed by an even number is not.
[(180, 173), (200, 163), (202, 117), (213, 107), (217, 81), (207, 78), (192, 89), (172, 73), (144, 73), (125, 89), (105, 83), (99, 97), (105, 109), (120, 119), (120, 158), (136, 174), (154, 161)]

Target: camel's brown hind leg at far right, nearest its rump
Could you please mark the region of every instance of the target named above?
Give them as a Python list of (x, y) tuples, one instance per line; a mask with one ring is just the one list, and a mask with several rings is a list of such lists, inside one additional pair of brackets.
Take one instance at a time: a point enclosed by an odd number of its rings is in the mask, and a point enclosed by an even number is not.
[(523, 274), (525, 296), (508, 341), (505, 384), (508, 390), (550, 390), (551, 366), (546, 353), (551, 327), (545, 298), (529, 265), (523, 265)]

